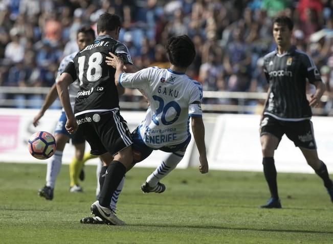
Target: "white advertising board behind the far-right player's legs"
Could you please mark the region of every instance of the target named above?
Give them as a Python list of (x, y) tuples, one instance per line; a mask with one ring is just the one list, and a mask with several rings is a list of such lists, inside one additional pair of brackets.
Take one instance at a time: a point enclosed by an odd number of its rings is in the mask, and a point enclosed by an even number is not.
[[(210, 169), (262, 171), (258, 115), (220, 115), (209, 147)], [(333, 172), (333, 118), (313, 117), (319, 158)], [(280, 172), (314, 173), (302, 152), (285, 135), (275, 151)]]

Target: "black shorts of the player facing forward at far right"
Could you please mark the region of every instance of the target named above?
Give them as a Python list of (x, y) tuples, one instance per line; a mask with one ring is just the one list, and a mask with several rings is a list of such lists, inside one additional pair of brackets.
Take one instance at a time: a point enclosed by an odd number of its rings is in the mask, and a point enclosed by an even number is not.
[(283, 121), (264, 115), (260, 127), (260, 136), (272, 134), (280, 142), (285, 134), (297, 147), (317, 149), (314, 128), (310, 120)]

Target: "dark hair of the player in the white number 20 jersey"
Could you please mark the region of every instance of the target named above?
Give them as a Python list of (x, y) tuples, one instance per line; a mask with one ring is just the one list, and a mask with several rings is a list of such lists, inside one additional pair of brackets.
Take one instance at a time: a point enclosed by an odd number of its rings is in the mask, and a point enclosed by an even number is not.
[(169, 38), (166, 51), (170, 63), (182, 68), (190, 66), (195, 57), (194, 43), (187, 35)]

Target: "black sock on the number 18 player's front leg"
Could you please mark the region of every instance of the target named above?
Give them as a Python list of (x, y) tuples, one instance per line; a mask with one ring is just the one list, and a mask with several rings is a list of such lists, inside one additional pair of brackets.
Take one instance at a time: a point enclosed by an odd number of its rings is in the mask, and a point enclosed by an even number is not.
[(98, 198), (99, 204), (109, 208), (111, 197), (123, 179), (126, 167), (119, 161), (112, 161), (107, 167), (107, 173), (104, 176), (104, 184)]

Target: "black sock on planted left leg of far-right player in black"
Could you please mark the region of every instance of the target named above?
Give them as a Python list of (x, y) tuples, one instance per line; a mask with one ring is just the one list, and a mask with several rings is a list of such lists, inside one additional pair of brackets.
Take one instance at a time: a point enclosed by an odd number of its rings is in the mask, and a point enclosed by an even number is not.
[(277, 182), (276, 182), (276, 168), (274, 164), (273, 157), (264, 157), (262, 158), (263, 165), (263, 173), (265, 175), (265, 179), (270, 188), (271, 196), (275, 199), (279, 198), (278, 190), (277, 190)]

